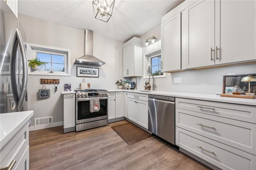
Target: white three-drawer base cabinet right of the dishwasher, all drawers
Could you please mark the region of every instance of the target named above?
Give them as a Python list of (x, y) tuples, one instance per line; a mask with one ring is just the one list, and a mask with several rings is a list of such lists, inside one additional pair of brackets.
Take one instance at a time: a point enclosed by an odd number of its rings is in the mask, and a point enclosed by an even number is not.
[(255, 111), (176, 98), (176, 145), (222, 169), (256, 169)]

